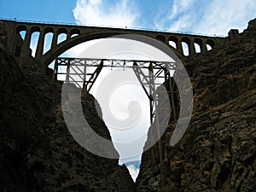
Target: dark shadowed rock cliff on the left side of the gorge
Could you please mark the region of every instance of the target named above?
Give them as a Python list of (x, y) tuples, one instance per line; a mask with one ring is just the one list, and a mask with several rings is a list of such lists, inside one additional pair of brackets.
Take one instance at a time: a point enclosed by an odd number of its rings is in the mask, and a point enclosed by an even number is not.
[[(26, 68), (0, 49), (0, 191), (135, 191), (125, 166), (79, 146), (61, 111), (61, 83)], [(102, 137), (108, 128), (95, 100), (82, 97), (88, 122)]]

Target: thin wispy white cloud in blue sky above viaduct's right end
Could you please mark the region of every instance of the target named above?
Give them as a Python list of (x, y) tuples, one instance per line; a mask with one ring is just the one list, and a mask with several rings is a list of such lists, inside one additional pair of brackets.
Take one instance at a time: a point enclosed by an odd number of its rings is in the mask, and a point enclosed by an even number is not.
[(157, 28), (175, 32), (195, 32), (226, 36), (231, 28), (240, 32), (247, 28), (247, 22), (255, 17), (256, 1), (252, 0), (174, 0), (169, 12), (154, 20)]

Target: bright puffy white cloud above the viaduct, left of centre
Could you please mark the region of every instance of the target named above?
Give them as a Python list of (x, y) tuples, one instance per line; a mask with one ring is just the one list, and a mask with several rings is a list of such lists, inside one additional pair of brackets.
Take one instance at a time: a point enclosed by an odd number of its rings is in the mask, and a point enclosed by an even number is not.
[[(108, 3), (108, 4), (107, 4)], [(110, 3), (103, 0), (78, 0), (73, 9), (79, 24), (94, 26), (134, 26), (138, 14), (136, 8), (127, 0)]]

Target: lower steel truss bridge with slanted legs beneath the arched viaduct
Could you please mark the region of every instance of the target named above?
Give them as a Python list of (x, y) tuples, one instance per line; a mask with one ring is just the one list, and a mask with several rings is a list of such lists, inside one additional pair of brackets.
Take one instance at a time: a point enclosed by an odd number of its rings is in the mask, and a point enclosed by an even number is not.
[[(66, 71), (60, 67), (66, 67)], [(74, 83), (81, 89), (90, 91), (97, 77), (102, 72), (103, 67), (113, 68), (132, 68), (137, 76), (138, 81), (148, 96), (150, 106), (150, 123), (151, 131), (154, 127), (157, 129), (157, 137), (160, 138), (161, 122), (170, 119), (170, 109), (166, 105), (171, 104), (172, 119), (177, 121), (177, 109), (174, 99), (174, 80), (171, 78), (175, 75), (176, 62), (171, 61), (134, 61), (134, 60), (113, 60), (113, 59), (90, 59), (90, 58), (57, 58), (53, 78), (57, 79), (60, 74), (66, 74), (66, 82)], [(64, 80), (64, 79), (63, 79)], [(168, 89), (169, 98), (163, 96)], [(169, 100), (170, 99), (170, 100)], [(171, 103), (170, 103), (171, 102)], [(166, 129), (166, 127), (164, 127)], [(150, 133), (149, 133), (150, 134)], [(152, 133), (151, 133), (152, 135)], [(170, 137), (171, 131), (166, 131), (166, 137)], [(166, 162), (166, 144), (162, 140), (158, 141), (159, 158), (155, 157), (157, 151), (155, 145), (151, 148), (153, 166), (160, 165), (161, 183), (164, 183), (164, 162)], [(163, 147), (162, 147), (163, 146)], [(163, 154), (164, 149), (164, 154)], [(164, 159), (164, 160), (163, 160)]]

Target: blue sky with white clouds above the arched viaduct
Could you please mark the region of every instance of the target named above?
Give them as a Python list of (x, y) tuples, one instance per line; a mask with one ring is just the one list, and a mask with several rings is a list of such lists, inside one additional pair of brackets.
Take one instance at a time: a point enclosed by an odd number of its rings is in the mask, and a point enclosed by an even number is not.
[[(256, 17), (255, 10), (255, 0), (0, 0), (0, 17), (5, 19), (219, 36), (227, 36), (232, 28), (242, 32)], [(130, 168), (137, 175), (137, 169)]]

